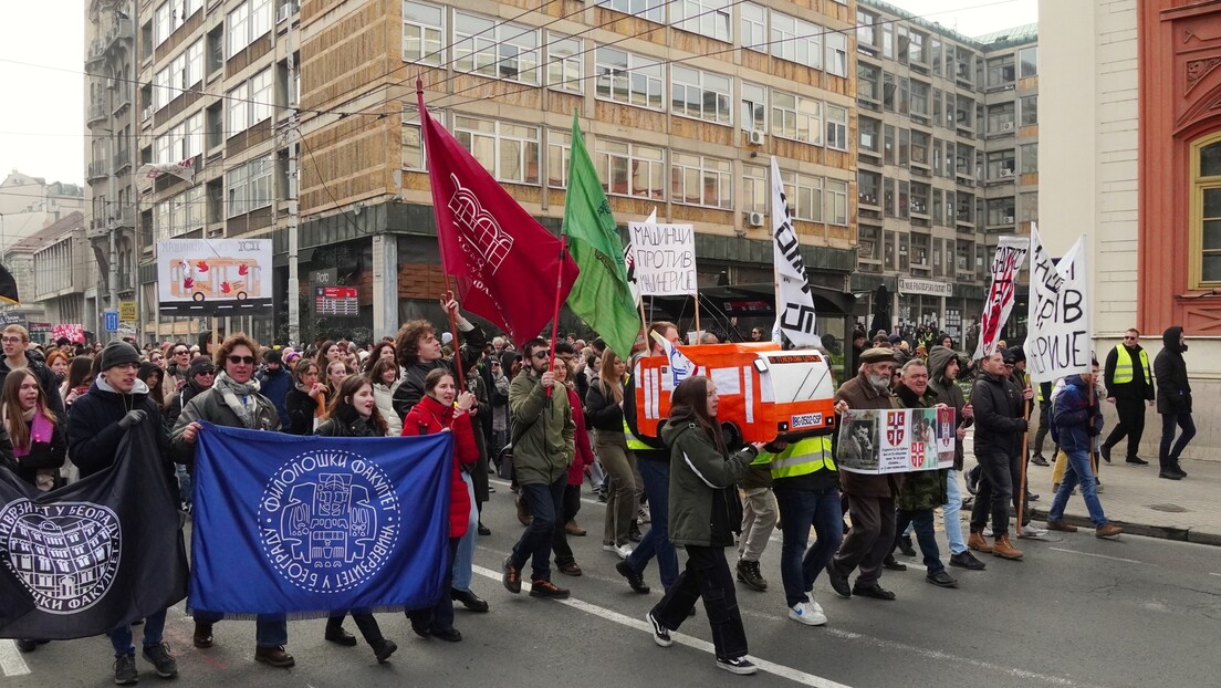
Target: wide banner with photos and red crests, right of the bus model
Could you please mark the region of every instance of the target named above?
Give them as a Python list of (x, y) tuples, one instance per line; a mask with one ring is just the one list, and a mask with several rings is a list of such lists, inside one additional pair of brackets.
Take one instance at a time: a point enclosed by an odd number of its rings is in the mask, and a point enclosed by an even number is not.
[(840, 422), (835, 466), (852, 473), (954, 468), (952, 408), (849, 411)]

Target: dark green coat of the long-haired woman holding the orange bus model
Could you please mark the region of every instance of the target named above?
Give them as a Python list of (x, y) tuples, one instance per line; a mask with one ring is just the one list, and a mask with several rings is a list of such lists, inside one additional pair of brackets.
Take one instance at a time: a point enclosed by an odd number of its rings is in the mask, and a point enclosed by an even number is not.
[(670, 447), (670, 541), (675, 545), (729, 547), (741, 532), (737, 479), (755, 461), (755, 447), (726, 456), (694, 422), (668, 423), (662, 439)]

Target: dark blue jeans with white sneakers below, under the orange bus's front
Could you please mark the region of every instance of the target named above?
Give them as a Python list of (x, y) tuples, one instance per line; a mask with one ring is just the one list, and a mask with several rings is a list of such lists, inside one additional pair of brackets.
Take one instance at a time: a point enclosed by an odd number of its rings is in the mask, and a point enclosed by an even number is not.
[[(780, 507), (780, 579), (784, 582), (784, 601), (790, 607), (812, 601), (814, 579), (827, 568), (844, 540), (844, 516), (840, 511), (839, 490), (819, 495), (811, 490), (773, 488), (775, 503)], [(810, 527), (814, 527), (818, 539), (806, 551)], [(805, 558), (802, 558), (805, 555)]]

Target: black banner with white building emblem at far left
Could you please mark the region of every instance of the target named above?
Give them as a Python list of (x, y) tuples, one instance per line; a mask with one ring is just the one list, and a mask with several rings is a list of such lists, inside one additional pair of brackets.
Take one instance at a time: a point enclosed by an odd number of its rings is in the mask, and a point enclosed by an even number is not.
[(98, 635), (187, 596), (156, 430), (137, 424), (112, 468), (51, 492), (0, 468), (0, 638)]

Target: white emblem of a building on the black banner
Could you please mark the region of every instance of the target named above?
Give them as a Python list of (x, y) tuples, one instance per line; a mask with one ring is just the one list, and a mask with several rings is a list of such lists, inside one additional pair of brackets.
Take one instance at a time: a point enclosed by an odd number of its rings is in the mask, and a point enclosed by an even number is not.
[(122, 529), (118, 516), (101, 505), (18, 499), (0, 511), (0, 543), (5, 566), (34, 606), (76, 613), (96, 604), (115, 583)]

